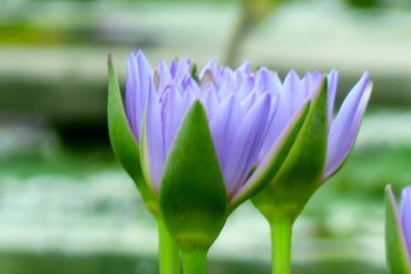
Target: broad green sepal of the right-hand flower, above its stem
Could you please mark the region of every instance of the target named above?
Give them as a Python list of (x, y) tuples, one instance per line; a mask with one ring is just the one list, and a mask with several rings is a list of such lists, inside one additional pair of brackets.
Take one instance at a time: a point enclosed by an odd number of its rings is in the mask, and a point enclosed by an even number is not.
[(311, 100), (299, 136), (276, 177), (252, 202), (269, 220), (294, 220), (321, 185), (327, 153), (327, 81), (322, 79)]

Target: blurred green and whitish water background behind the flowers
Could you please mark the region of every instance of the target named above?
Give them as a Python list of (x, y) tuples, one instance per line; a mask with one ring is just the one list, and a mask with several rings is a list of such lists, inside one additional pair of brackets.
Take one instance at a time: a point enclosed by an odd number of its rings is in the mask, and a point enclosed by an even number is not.
[[(152, 63), (248, 59), (364, 70), (374, 94), (341, 172), (295, 226), (293, 273), (387, 273), (385, 184), (411, 184), (411, 1), (2, 0), (0, 274), (156, 273), (156, 231), (106, 130), (106, 57), (121, 82), (142, 48)], [(249, 204), (210, 252), (210, 273), (269, 273), (269, 227)]]

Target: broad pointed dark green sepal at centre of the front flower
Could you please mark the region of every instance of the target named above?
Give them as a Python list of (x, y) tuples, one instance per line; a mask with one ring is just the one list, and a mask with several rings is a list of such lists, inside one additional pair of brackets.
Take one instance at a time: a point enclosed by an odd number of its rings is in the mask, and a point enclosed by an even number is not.
[(160, 209), (182, 250), (210, 248), (226, 222), (226, 188), (198, 100), (185, 115), (165, 163)]

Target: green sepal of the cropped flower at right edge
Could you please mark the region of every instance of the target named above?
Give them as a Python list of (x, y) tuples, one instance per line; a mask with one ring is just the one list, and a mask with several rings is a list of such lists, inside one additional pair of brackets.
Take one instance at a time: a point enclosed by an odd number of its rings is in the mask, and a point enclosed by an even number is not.
[(385, 188), (385, 250), (391, 273), (411, 273), (404, 231), (400, 224), (395, 196), (390, 184)]

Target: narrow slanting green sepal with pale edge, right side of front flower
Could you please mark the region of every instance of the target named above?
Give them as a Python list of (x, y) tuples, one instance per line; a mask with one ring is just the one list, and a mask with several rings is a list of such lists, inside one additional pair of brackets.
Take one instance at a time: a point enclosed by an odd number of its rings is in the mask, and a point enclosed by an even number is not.
[(271, 149), (264, 162), (261, 163), (257, 170), (251, 175), (246, 183), (246, 189), (238, 195), (235, 195), (230, 202), (230, 212), (236, 209), (237, 205), (240, 205), (249, 197), (256, 195), (261, 189), (263, 189), (272, 178), (279, 172), (279, 168), (282, 166), (290, 153), (290, 150), (299, 136), (300, 129), (307, 117), (310, 109), (310, 101), (307, 101), (293, 119), (290, 121), (287, 131), (283, 132), (275, 147)]

